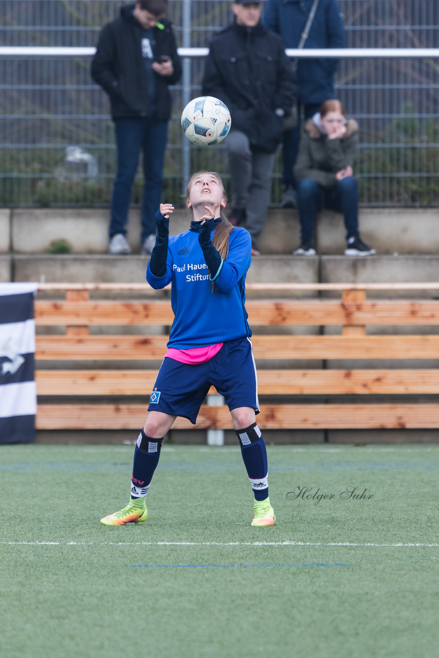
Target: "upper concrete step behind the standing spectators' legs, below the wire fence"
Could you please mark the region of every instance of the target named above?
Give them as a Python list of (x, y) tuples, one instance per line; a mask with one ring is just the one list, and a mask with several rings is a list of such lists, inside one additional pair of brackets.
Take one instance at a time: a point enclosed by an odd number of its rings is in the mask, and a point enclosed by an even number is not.
[[(359, 224), (363, 240), (378, 254), (439, 253), (438, 209), (363, 208)], [(0, 211), (0, 253), (45, 253), (54, 240), (65, 240), (74, 253), (107, 253), (107, 209), (14, 209)], [(171, 234), (189, 226), (184, 209), (170, 220)], [(128, 241), (140, 251), (140, 211), (133, 209)], [(297, 211), (270, 209), (259, 240), (265, 255), (291, 254), (299, 244)], [(324, 211), (317, 220), (317, 249), (321, 255), (343, 254), (343, 218)]]

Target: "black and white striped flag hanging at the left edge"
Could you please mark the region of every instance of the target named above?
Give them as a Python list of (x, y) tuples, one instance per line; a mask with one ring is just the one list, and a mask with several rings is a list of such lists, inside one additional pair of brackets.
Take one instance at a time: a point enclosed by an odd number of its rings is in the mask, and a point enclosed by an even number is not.
[(0, 443), (35, 440), (34, 293), (37, 284), (0, 284)]

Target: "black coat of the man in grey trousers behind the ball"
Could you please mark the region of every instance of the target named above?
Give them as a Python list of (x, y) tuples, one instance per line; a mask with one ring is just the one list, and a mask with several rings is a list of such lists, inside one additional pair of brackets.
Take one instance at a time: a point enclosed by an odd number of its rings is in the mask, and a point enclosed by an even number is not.
[(202, 89), (227, 105), (231, 130), (244, 132), (252, 147), (274, 153), (282, 139), (282, 113), (290, 113), (296, 95), (278, 34), (261, 23), (248, 28), (236, 22), (220, 32), (210, 44)]

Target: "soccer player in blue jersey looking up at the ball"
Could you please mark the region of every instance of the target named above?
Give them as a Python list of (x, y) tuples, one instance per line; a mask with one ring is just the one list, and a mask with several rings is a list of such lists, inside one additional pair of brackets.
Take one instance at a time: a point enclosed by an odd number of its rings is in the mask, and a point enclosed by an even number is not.
[(267, 451), (255, 417), (259, 413), (257, 378), (244, 306), (251, 238), (221, 214), (226, 195), (215, 172), (192, 176), (186, 203), (194, 220), (182, 234), (169, 236), (169, 215), (174, 210), (170, 203), (162, 203), (156, 215), (157, 240), (146, 278), (155, 289), (172, 283), (175, 317), (134, 452), (130, 503), (101, 523), (123, 525), (147, 519), (145, 497), (163, 437), (177, 416), (195, 424), (213, 385), (230, 409), (253, 489), (251, 525), (272, 526)]

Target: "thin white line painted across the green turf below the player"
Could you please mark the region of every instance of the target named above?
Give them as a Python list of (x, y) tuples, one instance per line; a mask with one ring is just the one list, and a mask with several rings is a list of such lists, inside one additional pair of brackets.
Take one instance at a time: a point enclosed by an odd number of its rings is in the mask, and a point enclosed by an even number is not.
[(357, 544), (352, 542), (0, 542), (6, 545), (25, 545), (25, 546), (353, 546), (366, 547), (372, 546), (377, 548), (411, 548), (425, 547), (437, 548), (439, 544)]

